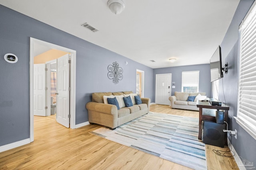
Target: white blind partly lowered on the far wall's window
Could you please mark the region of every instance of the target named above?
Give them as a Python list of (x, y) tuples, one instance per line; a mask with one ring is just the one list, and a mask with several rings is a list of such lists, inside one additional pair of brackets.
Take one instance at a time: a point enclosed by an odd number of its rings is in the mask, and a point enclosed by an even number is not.
[(197, 87), (199, 86), (199, 71), (184, 71), (182, 72), (182, 92), (183, 87)]

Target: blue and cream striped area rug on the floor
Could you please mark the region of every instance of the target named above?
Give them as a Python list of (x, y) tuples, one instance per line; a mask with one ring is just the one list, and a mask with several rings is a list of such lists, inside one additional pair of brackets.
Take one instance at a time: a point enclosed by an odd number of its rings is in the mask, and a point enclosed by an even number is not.
[(101, 127), (91, 133), (195, 170), (207, 169), (197, 118), (150, 112), (113, 131)]

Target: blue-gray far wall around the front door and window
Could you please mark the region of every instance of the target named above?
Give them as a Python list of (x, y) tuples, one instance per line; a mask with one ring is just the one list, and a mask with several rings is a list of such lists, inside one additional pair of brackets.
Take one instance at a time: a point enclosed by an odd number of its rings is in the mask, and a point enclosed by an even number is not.
[[(210, 61), (209, 61), (210, 63)], [(198, 64), (191, 66), (176, 66), (154, 69), (153, 88), (156, 88), (156, 74), (172, 73), (172, 82), (175, 82), (175, 88), (172, 88), (171, 95), (174, 92), (181, 92), (182, 72), (199, 70), (199, 92), (206, 92), (207, 97), (211, 96), (212, 83), (210, 78), (210, 64)], [(153, 100), (155, 101), (155, 90), (153, 92)]]

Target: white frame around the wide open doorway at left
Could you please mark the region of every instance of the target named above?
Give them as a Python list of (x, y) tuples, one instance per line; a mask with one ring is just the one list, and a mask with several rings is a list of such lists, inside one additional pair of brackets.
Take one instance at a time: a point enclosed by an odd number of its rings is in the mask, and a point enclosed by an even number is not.
[(34, 44), (40, 44), (70, 53), (70, 129), (76, 128), (76, 51), (30, 37), (30, 142), (34, 141)]

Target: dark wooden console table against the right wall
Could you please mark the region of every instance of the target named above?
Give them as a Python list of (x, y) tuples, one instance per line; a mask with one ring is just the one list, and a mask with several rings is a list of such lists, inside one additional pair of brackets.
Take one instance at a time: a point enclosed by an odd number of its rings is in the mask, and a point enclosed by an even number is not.
[[(215, 120), (215, 111), (213, 109), (217, 110), (224, 110), (224, 121), (228, 121), (228, 110), (229, 107), (222, 104), (222, 106), (212, 106), (210, 102), (200, 102), (199, 100), (196, 102), (196, 106), (199, 107), (199, 132), (198, 132), (198, 139), (202, 140), (202, 121), (207, 120), (207, 121), (216, 121)], [(203, 109), (206, 109), (208, 113), (210, 114), (204, 114)], [(225, 128), (227, 127), (225, 123)], [(225, 144), (228, 144), (227, 141), (227, 133), (225, 133)]]

